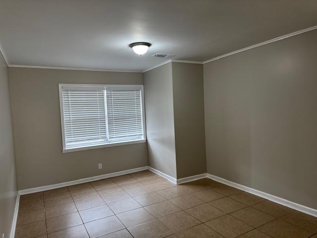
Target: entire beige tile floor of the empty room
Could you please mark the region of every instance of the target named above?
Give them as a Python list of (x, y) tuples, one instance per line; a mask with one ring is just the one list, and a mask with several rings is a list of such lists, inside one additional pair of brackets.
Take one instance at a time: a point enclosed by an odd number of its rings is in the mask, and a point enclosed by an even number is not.
[(16, 238), (317, 238), (317, 218), (200, 179), (150, 171), (23, 195)]

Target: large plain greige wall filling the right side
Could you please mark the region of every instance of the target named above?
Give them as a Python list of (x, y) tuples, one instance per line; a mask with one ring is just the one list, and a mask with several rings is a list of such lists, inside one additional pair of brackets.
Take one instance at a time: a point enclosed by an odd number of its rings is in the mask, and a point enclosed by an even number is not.
[(317, 30), (204, 64), (212, 175), (317, 209)]

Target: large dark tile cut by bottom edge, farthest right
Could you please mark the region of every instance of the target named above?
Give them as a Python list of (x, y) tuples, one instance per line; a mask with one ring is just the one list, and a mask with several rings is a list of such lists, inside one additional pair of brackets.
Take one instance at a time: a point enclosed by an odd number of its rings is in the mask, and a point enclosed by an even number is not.
[(313, 233), (309, 233), (280, 219), (267, 223), (259, 227), (258, 230), (272, 238), (308, 238), (313, 235)]

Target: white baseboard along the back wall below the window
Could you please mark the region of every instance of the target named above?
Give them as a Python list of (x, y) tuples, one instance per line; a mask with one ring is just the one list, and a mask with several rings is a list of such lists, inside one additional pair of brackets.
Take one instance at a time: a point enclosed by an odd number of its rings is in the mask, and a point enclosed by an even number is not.
[(131, 174), (134, 172), (139, 172), (139, 171), (143, 171), (143, 170), (147, 170), (147, 169), (148, 169), (148, 166), (145, 166), (145, 167), (135, 168), (135, 169), (131, 169), (131, 170), (124, 170), (124, 171), (114, 172), (114, 173), (110, 173), (110, 174), (89, 177), (89, 178), (85, 178), (85, 179), (78, 179), (78, 180), (55, 183), (55, 184), (41, 186), (41, 187), (28, 188), (28, 189), (19, 190), (19, 194), (24, 195), (24, 194), (34, 193), (34, 192), (42, 192), (42, 191), (51, 190), (54, 188), (71, 186), (71, 185), (75, 185), (75, 184), (79, 184), (79, 183), (83, 183), (83, 182), (92, 182), (92, 181), (96, 181), (96, 180), (100, 180), (100, 179), (107, 179), (107, 178), (116, 177), (116, 176), (120, 176), (120, 175)]

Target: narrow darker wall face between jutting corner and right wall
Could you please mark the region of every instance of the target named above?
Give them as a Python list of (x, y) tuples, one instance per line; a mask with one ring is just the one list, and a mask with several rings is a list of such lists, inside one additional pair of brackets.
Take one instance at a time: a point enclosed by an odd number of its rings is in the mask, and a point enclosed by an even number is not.
[(177, 179), (207, 172), (203, 65), (172, 62)]

